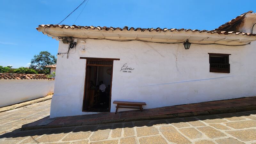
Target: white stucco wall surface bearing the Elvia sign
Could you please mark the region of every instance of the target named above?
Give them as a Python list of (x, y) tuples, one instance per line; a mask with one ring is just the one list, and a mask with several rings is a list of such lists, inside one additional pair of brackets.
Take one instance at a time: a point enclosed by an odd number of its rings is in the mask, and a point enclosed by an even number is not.
[[(87, 39), (70, 51), (68, 59), (58, 56), (50, 117), (90, 114), (82, 112), (86, 60), (79, 57), (120, 59), (113, 66), (111, 112), (116, 109), (114, 100), (157, 108), (256, 96), (255, 45), (191, 44), (185, 50), (183, 44)], [(67, 52), (66, 44), (59, 44), (61, 52)], [(209, 72), (208, 53), (231, 54), (230, 73)], [(132, 73), (120, 71), (125, 63), (134, 68)]]

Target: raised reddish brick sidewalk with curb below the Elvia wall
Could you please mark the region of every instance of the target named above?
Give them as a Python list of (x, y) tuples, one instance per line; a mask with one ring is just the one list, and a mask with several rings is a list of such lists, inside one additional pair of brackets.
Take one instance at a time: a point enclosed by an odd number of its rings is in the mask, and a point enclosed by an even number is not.
[(49, 118), (49, 116), (47, 116), (36, 122), (22, 125), (21, 130), (169, 119), (175, 117), (213, 115), (248, 110), (256, 110), (256, 96), (168, 106), (162, 108), (150, 108), (144, 109), (142, 112), (140, 110), (130, 110), (117, 112), (117, 114), (115, 114), (115, 112), (104, 112), (90, 115), (65, 116), (56, 118)]

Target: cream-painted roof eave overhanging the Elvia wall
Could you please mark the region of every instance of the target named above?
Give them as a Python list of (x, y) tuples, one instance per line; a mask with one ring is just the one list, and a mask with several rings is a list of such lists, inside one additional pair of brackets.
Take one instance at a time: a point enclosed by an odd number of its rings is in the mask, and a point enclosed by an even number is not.
[(195, 43), (246, 44), (256, 40), (256, 34), (240, 32), (220, 32), (191, 29), (107, 29), (103, 28), (60, 28), (59, 26), (38, 27), (38, 31), (59, 40), (58, 37), (72, 36), (77, 39), (100, 38), (112, 40), (146, 40), (151, 42), (183, 42), (186, 39)]

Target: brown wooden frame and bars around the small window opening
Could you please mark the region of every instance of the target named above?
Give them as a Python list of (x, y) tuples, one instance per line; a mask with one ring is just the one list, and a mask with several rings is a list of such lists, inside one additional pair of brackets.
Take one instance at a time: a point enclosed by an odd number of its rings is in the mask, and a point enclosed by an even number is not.
[[(224, 54), (224, 53), (208, 53), (208, 54), (209, 54), (210, 72), (230, 73), (229, 55), (231, 54)], [(227, 62), (225, 64), (211, 63), (211, 56), (227, 57)]]

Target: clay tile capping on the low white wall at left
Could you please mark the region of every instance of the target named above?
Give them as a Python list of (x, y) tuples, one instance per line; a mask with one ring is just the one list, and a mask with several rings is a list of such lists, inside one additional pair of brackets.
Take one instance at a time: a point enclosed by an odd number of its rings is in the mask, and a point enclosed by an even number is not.
[(48, 78), (46, 74), (9, 74), (0, 73), (0, 79), (48, 79), (54, 80), (54, 78)]

